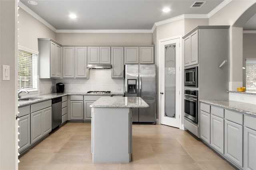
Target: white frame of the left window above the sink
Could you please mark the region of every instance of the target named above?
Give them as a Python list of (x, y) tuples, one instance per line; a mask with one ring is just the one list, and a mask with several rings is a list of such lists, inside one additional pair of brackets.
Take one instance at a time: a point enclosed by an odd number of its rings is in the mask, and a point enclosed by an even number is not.
[[(26, 47), (22, 47), (20, 45), (18, 45), (18, 50), (22, 50), (22, 51), (26, 51), (28, 53), (32, 53), (34, 55), (37, 55), (37, 70), (36, 70), (36, 76), (34, 77), (33, 79), (33, 84), (35, 83), (36, 81), (36, 86), (34, 86), (34, 88), (26, 88), (26, 90), (28, 90), (31, 94), (34, 94), (33, 92), (38, 92), (39, 91), (39, 76), (38, 76), (38, 51), (34, 51), (34, 50), (31, 50), (31, 49), (28, 49)], [(33, 70), (34, 72), (34, 70)]]

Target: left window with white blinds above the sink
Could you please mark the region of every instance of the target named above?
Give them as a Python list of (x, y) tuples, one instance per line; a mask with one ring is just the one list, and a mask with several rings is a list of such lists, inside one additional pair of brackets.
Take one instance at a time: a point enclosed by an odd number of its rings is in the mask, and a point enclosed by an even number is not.
[(37, 90), (38, 55), (18, 50), (18, 89)]

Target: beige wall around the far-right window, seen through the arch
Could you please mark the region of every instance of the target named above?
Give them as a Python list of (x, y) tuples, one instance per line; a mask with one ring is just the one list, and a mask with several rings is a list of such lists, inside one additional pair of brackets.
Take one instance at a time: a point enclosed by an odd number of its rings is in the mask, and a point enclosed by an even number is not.
[[(256, 34), (243, 34), (243, 67), (246, 59), (256, 59)], [(243, 86), (246, 86), (246, 70), (243, 69)]]

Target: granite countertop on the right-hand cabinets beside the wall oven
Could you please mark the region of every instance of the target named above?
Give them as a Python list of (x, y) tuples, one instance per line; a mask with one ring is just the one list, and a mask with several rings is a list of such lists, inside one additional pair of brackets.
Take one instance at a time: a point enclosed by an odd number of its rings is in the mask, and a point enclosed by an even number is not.
[(249, 115), (256, 116), (256, 105), (255, 104), (236, 102), (233, 100), (200, 100), (200, 102), (204, 102), (206, 104), (220, 106), (220, 107), (224, 107), (226, 109), (231, 109), (231, 110), (239, 111), (241, 113), (246, 113)]

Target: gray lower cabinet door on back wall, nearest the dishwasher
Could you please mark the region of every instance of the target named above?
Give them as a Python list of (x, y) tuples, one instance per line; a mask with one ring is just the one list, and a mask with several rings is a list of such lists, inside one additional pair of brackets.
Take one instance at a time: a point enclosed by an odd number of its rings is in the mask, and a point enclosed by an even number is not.
[(70, 101), (70, 119), (84, 119), (83, 101)]

